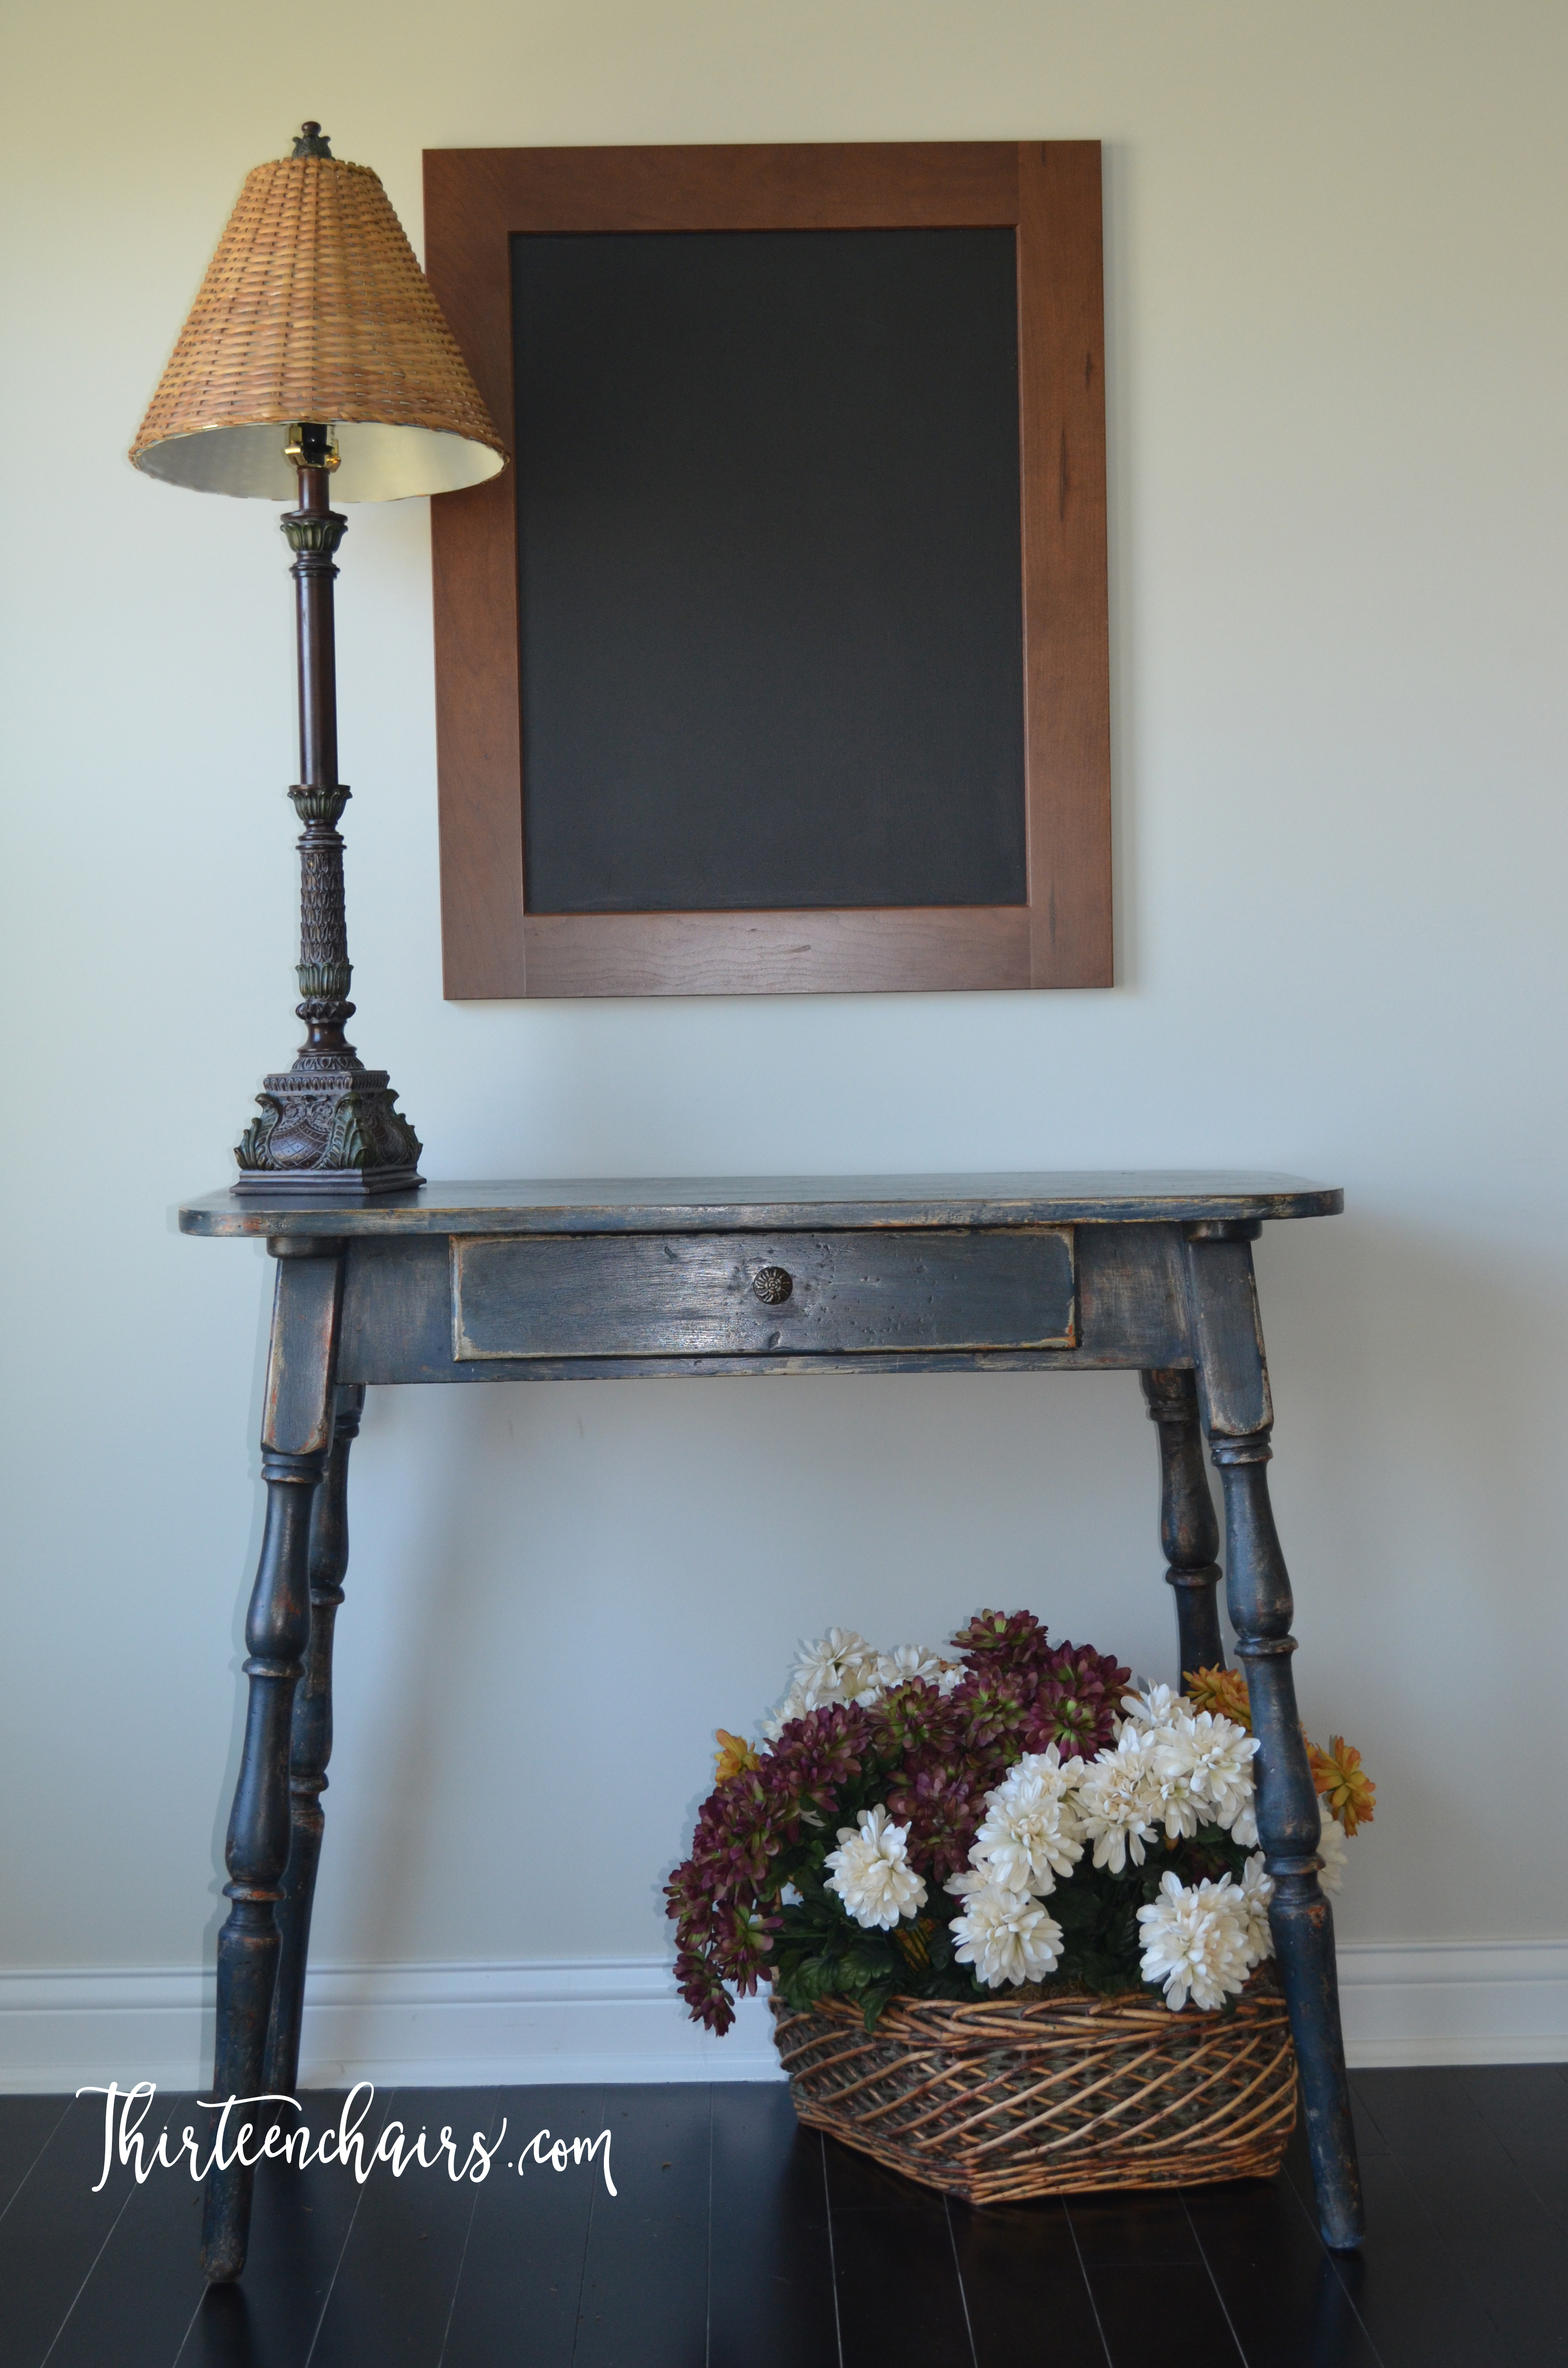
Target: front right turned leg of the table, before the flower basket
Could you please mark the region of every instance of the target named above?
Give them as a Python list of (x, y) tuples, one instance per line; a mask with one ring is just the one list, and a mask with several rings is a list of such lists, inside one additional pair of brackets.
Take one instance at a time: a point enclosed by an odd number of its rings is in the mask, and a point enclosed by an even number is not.
[(1334, 1913), (1317, 1880), (1317, 1790), (1296, 1714), (1291, 1579), (1270, 1508), (1274, 1409), (1253, 1286), (1258, 1227), (1215, 1222), (1187, 1231), (1199, 1392), (1225, 1487), (1227, 1606), (1262, 1745), (1258, 1838), (1274, 1878), (1270, 1928), (1296, 2036), (1317, 2216), (1324, 2245), (1350, 2252), (1367, 2224), (1338, 2020)]

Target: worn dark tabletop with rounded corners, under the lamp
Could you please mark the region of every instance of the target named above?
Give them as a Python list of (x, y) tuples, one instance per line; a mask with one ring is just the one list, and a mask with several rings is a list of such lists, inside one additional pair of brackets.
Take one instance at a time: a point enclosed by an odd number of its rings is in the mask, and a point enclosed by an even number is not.
[(812, 1227), (1191, 1224), (1213, 1217), (1334, 1217), (1336, 1184), (1281, 1175), (1092, 1170), (931, 1177), (592, 1177), (424, 1184), (367, 1201), (268, 1201), (208, 1191), (182, 1234), (727, 1234)]

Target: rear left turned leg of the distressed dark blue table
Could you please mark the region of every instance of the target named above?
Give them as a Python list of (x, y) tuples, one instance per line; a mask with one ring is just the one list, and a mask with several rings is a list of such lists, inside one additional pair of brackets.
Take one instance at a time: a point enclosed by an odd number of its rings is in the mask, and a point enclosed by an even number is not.
[(322, 1793), (332, 1759), (332, 1629), (343, 1601), (348, 1570), (348, 1449), (360, 1435), (365, 1411), (362, 1383), (341, 1383), (334, 1392), (332, 1447), (327, 1471), (310, 1511), (310, 1650), (294, 1695), (294, 1738), (289, 1745), (289, 1866), (284, 1894), (277, 1902), (282, 1949), (277, 1987), (272, 1989), (272, 2025), (268, 2029), (265, 2084), (272, 2091), (298, 2089), (298, 2032), (306, 2008), (306, 1958), (310, 1954), (310, 1909), (315, 1868), (322, 1854)]

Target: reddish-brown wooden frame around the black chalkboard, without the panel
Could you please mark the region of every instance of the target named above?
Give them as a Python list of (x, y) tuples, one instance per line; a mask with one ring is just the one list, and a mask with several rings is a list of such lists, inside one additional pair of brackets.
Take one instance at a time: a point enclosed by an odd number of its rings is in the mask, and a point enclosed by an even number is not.
[(450, 999), (1111, 985), (1099, 142), (426, 149), (426, 272), (490, 417), (512, 234), (1014, 227), (1026, 905), (531, 914), (512, 471), (431, 502)]

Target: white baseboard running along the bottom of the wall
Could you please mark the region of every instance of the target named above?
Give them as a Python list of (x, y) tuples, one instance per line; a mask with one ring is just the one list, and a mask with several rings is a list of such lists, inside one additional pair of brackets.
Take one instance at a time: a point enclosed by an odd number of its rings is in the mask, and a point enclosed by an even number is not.
[[(1568, 2063), (1568, 1942), (1362, 1942), (1338, 1977), (1352, 2065)], [(194, 2089), (211, 2032), (213, 1977), (194, 1968), (0, 1973), (0, 2091)], [(711, 2039), (661, 1958), (324, 1965), (301, 2074), (313, 2089), (782, 2077), (760, 2001)]]

